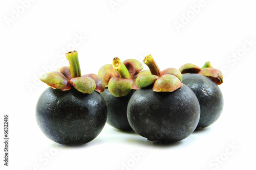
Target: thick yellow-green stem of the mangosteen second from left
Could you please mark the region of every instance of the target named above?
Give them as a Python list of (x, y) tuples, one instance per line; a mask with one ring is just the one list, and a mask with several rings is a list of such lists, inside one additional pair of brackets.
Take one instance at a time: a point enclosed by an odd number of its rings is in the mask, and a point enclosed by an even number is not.
[(121, 78), (131, 79), (131, 75), (130, 75), (128, 69), (125, 67), (123, 62), (118, 57), (115, 57), (113, 59), (112, 65), (113, 65), (113, 68), (118, 72), (118, 74), (120, 75)]

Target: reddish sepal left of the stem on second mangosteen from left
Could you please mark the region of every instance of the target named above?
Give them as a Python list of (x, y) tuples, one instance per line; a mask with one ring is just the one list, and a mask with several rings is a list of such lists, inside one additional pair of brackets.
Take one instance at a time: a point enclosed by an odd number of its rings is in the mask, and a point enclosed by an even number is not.
[(100, 67), (98, 75), (105, 83), (105, 87), (109, 86), (109, 81), (112, 77), (120, 77), (118, 72), (113, 68), (112, 64), (105, 64)]

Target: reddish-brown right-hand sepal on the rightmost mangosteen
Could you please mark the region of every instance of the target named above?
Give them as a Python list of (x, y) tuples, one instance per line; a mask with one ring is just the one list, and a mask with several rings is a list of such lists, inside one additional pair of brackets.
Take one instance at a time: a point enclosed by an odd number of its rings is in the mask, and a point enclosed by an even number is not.
[(222, 72), (216, 68), (204, 68), (201, 71), (199, 71), (198, 74), (207, 76), (218, 85), (223, 83)]

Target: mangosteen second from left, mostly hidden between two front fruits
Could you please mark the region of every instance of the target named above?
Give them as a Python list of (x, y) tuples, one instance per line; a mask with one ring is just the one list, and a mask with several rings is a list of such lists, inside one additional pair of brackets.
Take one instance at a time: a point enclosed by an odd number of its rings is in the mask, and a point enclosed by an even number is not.
[(139, 87), (135, 79), (139, 74), (146, 74), (143, 65), (135, 59), (121, 61), (115, 57), (112, 64), (103, 65), (98, 75), (105, 83), (105, 90), (101, 93), (108, 107), (106, 123), (122, 131), (131, 131), (127, 120), (127, 105), (132, 94)]

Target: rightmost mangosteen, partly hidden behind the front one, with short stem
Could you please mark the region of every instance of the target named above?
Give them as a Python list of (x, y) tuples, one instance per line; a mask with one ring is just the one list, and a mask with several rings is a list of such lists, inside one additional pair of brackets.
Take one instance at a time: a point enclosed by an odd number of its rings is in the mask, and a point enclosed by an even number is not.
[(194, 91), (200, 104), (197, 129), (212, 125), (220, 117), (224, 106), (223, 94), (218, 86), (223, 83), (221, 71), (212, 68), (210, 62), (205, 62), (201, 68), (187, 63), (179, 70), (183, 74), (182, 83)]

